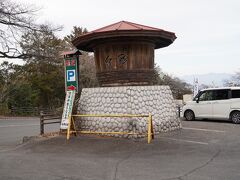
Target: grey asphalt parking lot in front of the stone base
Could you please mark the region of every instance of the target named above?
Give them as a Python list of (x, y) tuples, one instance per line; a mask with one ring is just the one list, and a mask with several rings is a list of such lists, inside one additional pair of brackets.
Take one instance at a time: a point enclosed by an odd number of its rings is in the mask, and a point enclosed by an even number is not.
[(240, 125), (183, 121), (146, 139), (38, 138), (0, 151), (0, 179), (239, 180)]

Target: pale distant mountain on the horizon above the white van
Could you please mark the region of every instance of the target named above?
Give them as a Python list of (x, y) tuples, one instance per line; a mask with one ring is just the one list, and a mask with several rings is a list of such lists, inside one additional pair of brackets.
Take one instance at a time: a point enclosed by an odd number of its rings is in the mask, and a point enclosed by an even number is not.
[(186, 81), (189, 84), (193, 84), (194, 78), (198, 79), (199, 85), (205, 84), (208, 86), (223, 86), (224, 80), (229, 80), (233, 74), (227, 73), (208, 73), (208, 74), (192, 74), (180, 76), (179, 78)]

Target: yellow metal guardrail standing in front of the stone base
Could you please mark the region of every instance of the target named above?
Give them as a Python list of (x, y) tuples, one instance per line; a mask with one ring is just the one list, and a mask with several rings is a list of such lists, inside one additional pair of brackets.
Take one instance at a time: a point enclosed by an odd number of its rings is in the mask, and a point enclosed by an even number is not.
[[(77, 135), (77, 132), (82, 134), (129, 134), (129, 135), (137, 135), (140, 133), (129, 133), (129, 132), (97, 132), (97, 131), (77, 131), (75, 126), (75, 117), (147, 117), (148, 118), (148, 131), (147, 131), (147, 139), (148, 143), (151, 143), (151, 140), (154, 138), (153, 126), (152, 126), (152, 115), (149, 113), (148, 115), (134, 115), (134, 114), (77, 114), (72, 115), (69, 118), (68, 129), (67, 129), (67, 140), (70, 138), (70, 134), (74, 133)], [(73, 130), (71, 130), (73, 128)]]

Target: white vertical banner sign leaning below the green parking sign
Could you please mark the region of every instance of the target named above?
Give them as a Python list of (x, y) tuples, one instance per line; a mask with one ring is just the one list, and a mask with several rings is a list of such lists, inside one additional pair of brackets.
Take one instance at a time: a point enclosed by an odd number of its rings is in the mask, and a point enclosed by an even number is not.
[(75, 94), (76, 94), (76, 91), (67, 91), (66, 93), (60, 129), (68, 128), (68, 123), (69, 123), (68, 120), (72, 115)]

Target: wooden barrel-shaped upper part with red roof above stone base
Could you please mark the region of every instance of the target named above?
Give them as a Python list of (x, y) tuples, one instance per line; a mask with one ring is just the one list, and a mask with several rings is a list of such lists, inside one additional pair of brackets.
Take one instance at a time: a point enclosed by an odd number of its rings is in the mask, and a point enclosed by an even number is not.
[(154, 49), (169, 46), (173, 32), (127, 21), (91, 31), (73, 40), (80, 50), (94, 52), (101, 86), (150, 85)]

